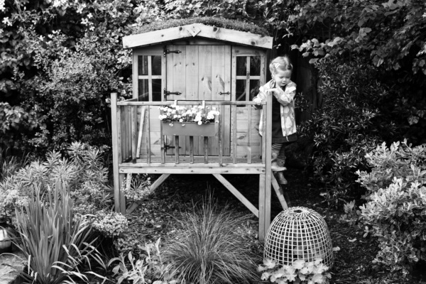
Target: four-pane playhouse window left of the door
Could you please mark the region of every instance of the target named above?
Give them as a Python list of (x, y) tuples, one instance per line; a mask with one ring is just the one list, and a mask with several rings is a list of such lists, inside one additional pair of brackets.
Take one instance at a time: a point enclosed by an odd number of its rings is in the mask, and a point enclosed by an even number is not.
[(161, 56), (138, 55), (138, 100), (161, 101)]

